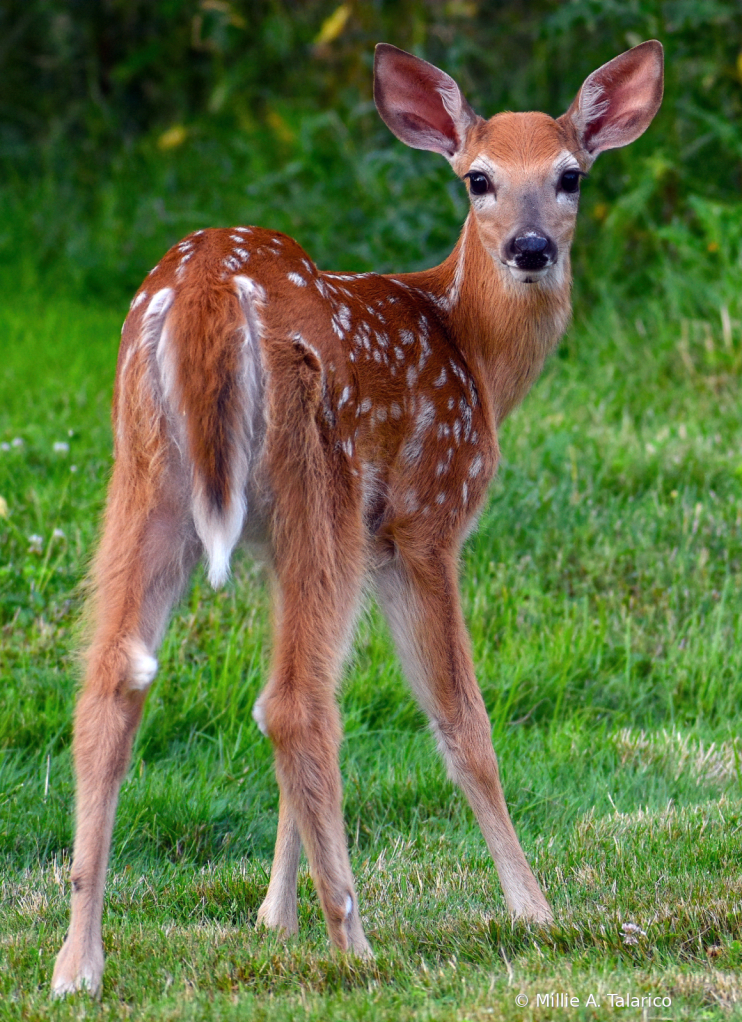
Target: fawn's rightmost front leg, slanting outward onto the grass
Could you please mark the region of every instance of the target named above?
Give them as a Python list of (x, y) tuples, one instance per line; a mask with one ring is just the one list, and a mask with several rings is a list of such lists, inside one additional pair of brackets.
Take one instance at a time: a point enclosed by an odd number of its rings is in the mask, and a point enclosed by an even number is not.
[(421, 563), (401, 552), (377, 572), (376, 582), (407, 677), (430, 717), (452, 779), (474, 810), (508, 909), (516, 918), (550, 923), (551, 909), (525, 861), (500, 783), (461, 613), (455, 558), (433, 552)]

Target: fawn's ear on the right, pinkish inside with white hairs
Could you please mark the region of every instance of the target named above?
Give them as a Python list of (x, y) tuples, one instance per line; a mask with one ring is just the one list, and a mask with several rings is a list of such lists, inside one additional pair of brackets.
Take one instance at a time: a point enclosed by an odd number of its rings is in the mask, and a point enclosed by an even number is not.
[(595, 159), (642, 135), (662, 102), (662, 44), (640, 43), (594, 71), (560, 121), (571, 122)]

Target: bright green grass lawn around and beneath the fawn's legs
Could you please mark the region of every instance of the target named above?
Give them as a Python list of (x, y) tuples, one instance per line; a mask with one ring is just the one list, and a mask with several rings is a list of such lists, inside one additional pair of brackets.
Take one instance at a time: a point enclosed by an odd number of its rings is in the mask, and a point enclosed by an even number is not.
[[(277, 791), (250, 716), (268, 598), (241, 560), (219, 594), (197, 572), (160, 651), (114, 832), (100, 1005), (52, 1004), (48, 986), (67, 918), (79, 587), (125, 307), (8, 276), (0, 1018), (642, 1017), (611, 1004), (627, 991), (671, 998), (647, 1017), (742, 1018), (739, 264), (706, 260), (687, 284), (693, 252), (740, 220), (699, 210), (695, 236), (668, 237), (652, 296), (578, 315), (503, 429), (465, 551), (478, 677), (553, 931), (507, 921), (371, 607), (343, 689), (342, 769), (376, 961), (330, 954), (306, 871), (300, 938), (256, 933)], [(552, 991), (581, 1006), (537, 1003)]]

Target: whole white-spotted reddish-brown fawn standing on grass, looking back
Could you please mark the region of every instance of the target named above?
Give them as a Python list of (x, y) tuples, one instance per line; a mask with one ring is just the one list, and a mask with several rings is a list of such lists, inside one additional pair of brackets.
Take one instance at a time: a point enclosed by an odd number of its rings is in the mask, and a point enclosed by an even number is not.
[(264, 546), (276, 590), (272, 673), (254, 716), (273, 743), (280, 805), (259, 920), (296, 931), (304, 845), (333, 943), (370, 954), (342, 823), (335, 701), (366, 583), (508, 909), (552, 919), (500, 785), (458, 557), (497, 467), (498, 426), (569, 318), (579, 179), (599, 152), (644, 132), (661, 94), (662, 47), (647, 42), (594, 72), (556, 121), (485, 121), (444, 72), (380, 44), (382, 119), (468, 185), (469, 216), (440, 266), (325, 273), (285, 235), (236, 227), (196, 231), (150, 272), (119, 357), (56, 993), (100, 987), (119, 788), (173, 603), (202, 555), (223, 583), (240, 542)]

